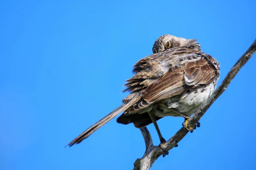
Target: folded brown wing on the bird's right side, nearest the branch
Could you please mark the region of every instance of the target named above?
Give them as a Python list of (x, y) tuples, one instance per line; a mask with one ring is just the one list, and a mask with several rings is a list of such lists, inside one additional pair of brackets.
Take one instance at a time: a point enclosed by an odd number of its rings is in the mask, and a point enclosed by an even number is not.
[[(175, 60), (175, 59), (174, 59)], [(134, 113), (148, 105), (207, 85), (219, 77), (218, 62), (205, 53), (186, 54), (176, 58), (169, 71), (156, 79), (147, 88), (136, 105), (126, 113)]]

